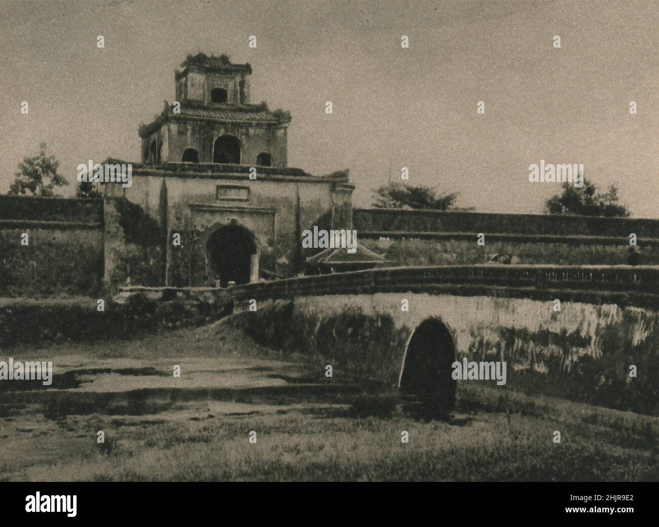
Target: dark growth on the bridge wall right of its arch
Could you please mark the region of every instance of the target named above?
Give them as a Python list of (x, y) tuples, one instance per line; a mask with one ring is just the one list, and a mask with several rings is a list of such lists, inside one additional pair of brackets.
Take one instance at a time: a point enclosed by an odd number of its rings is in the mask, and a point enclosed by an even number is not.
[[(580, 352), (590, 347), (590, 339), (575, 331), (554, 333), (547, 330), (530, 332), (525, 328), (498, 330), (496, 343), (476, 339), (469, 350), (469, 360), (484, 360), (486, 350), (497, 360), (501, 352), (508, 360), (534, 357), (542, 362), (545, 372), (534, 364), (529, 368), (509, 370), (509, 387), (525, 393), (543, 393), (573, 401), (598, 404), (617, 410), (629, 410), (659, 416), (659, 347), (656, 339), (647, 337), (635, 343), (633, 321), (624, 319), (608, 325), (598, 335), (602, 356)], [(629, 376), (634, 365), (637, 377)]]

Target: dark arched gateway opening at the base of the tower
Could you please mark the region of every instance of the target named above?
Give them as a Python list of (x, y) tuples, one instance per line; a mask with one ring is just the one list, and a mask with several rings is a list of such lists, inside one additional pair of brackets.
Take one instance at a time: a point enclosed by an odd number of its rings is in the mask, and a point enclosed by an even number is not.
[(219, 279), (221, 287), (227, 287), (230, 281), (250, 282), (257, 264), (256, 241), (248, 229), (233, 224), (220, 227), (208, 238), (206, 248), (211, 277)]

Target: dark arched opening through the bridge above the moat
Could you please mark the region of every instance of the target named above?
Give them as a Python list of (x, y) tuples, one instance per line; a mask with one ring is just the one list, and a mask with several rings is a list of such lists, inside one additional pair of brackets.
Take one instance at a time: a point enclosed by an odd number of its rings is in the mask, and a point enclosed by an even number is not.
[(407, 343), (399, 380), (401, 391), (415, 397), (424, 414), (448, 414), (455, 408), (453, 362), (455, 345), (448, 328), (436, 318), (424, 320)]

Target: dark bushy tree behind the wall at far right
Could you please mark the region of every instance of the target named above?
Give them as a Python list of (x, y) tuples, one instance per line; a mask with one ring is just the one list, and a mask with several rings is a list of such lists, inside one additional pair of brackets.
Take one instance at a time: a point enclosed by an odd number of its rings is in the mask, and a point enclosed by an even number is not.
[(583, 186), (563, 183), (563, 192), (548, 199), (546, 212), (550, 214), (580, 214), (587, 216), (628, 217), (629, 210), (618, 202), (617, 186), (609, 186), (608, 192), (597, 192), (594, 183), (583, 179)]

